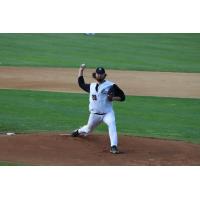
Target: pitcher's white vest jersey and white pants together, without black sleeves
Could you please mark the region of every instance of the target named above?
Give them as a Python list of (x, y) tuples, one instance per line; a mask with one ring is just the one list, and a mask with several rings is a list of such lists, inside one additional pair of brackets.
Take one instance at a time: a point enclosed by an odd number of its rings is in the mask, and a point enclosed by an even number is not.
[(115, 114), (112, 108), (112, 102), (108, 100), (108, 91), (114, 83), (105, 80), (99, 84), (90, 84), (89, 111), (90, 116), (87, 125), (81, 127), (78, 132), (87, 135), (93, 131), (100, 123), (104, 122), (108, 126), (111, 146), (117, 146), (117, 130), (115, 123)]

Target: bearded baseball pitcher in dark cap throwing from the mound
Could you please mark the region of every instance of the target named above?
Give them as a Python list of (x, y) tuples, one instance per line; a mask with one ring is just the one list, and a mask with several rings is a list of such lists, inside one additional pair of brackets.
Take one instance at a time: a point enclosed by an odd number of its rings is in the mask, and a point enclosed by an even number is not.
[(124, 92), (113, 82), (106, 80), (106, 73), (103, 67), (97, 67), (92, 74), (96, 82), (86, 84), (83, 77), (83, 71), (86, 65), (82, 64), (78, 72), (78, 84), (80, 88), (89, 93), (89, 111), (90, 116), (87, 125), (71, 133), (73, 137), (79, 135), (87, 136), (95, 127), (104, 122), (108, 126), (110, 137), (110, 152), (118, 154), (118, 140), (115, 123), (115, 113), (112, 107), (112, 101), (124, 101)]

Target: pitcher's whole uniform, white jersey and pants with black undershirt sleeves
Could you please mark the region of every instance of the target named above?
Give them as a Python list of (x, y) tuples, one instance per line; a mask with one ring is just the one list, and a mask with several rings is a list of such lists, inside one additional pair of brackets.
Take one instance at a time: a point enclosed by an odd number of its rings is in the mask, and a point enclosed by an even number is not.
[(108, 126), (111, 146), (117, 146), (115, 113), (113, 111), (112, 101), (108, 98), (108, 94), (112, 93), (112, 95), (120, 97), (120, 101), (124, 101), (124, 92), (117, 85), (108, 80), (104, 80), (102, 83), (86, 84), (83, 76), (79, 76), (78, 84), (84, 91), (90, 93), (90, 116), (88, 123), (78, 129), (78, 133), (86, 136), (100, 123), (104, 122)]

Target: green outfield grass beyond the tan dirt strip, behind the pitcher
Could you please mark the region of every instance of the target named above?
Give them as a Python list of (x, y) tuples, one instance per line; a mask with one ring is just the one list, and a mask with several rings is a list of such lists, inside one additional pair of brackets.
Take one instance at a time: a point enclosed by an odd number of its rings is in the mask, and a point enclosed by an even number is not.
[(0, 66), (200, 72), (200, 34), (0, 34)]

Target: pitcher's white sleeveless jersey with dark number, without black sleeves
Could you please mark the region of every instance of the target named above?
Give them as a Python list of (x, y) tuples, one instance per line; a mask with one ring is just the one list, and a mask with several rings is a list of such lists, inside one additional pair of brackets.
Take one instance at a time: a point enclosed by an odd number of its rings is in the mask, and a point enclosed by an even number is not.
[(97, 83), (90, 84), (89, 96), (89, 110), (91, 113), (108, 113), (112, 111), (112, 102), (108, 100), (108, 91), (114, 83), (111, 81), (104, 81), (99, 84), (98, 91), (96, 91)]

